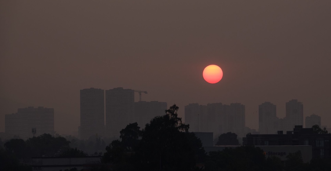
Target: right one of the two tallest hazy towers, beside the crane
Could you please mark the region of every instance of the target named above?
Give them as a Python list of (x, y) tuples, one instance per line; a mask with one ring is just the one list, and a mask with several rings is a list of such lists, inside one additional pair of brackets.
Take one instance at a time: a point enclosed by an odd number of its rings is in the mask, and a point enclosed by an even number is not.
[(106, 134), (119, 138), (120, 130), (134, 123), (134, 90), (106, 90)]

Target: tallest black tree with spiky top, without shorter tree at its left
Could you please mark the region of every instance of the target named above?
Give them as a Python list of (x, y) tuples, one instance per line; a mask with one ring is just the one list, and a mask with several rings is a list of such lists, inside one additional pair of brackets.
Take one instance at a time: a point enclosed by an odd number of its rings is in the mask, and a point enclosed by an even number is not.
[[(189, 133), (174, 104), (166, 115), (153, 118), (142, 131), (141, 163), (147, 170), (189, 170), (205, 152), (200, 139)], [(194, 144), (193, 144), (194, 143)]]

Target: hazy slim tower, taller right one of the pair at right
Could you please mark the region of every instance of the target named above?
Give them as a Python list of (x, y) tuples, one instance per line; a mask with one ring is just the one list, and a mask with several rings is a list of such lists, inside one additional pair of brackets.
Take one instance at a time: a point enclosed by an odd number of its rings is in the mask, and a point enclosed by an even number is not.
[(304, 105), (298, 100), (290, 100), (286, 102), (286, 130), (291, 130), (296, 125), (304, 124)]

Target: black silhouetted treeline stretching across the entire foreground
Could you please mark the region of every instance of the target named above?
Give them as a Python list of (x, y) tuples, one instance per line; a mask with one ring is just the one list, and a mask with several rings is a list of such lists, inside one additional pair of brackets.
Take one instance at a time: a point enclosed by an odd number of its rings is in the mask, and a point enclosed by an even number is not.
[[(43, 134), (38, 137), (0, 141), (0, 171), (32, 170), (31, 166), (20, 164), (19, 159), (31, 157), (81, 157), (80, 150), (90, 148), (91, 152), (105, 149), (102, 164), (95, 171), (330, 171), (331, 159), (312, 159), (304, 163), (298, 151), (281, 161), (278, 157), (265, 157), (258, 147), (240, 146), (223, 151), (210, 152), (202, 147), (200, 139), (189, 132), (189, 125), (182, 123), (177, 115), (178, 107), (171, 106), (166, 115), (153, 118), (145, 128), (137, 123), (129, 124), (120, 131), (120, 139), (106, 142), (95, 137), (87, 141), (74, 137), (53, 137)], [(95, 141), (93, 142), (93, 139)], [(68, 141), (70, 140), (70, 141)], [(91, 142), (92, 143), (89, 143)], [(88, 142), (87, 145), (85, 143)], [(237, 135), (222, 134), (217, 144), (238, 144)], [(84, 146), (83, 146), (83, 145)], [(111, 168), (109, 168), (111, 166)], [(75, 170), (75, 168), (71, 169)]]

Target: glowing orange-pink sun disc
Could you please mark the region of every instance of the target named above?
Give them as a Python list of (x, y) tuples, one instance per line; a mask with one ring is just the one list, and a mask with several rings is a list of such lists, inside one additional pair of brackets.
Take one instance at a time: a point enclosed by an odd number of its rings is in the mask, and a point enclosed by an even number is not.
[(204, 69), (202, 76), (207, 82), (215, 84), (222, 79), (223, 71), (217, 65), (209, 65)]

